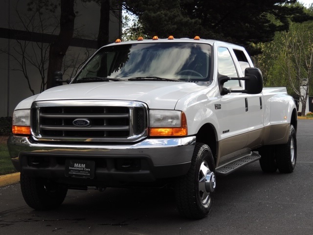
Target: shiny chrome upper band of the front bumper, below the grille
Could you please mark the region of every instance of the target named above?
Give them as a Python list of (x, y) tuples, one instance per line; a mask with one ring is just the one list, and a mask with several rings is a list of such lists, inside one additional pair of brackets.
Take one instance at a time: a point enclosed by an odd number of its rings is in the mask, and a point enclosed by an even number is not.
[(36, 153), (39, 156), (57, 154), (67, 156), (84, 155), (86, 157), (145, 157), (154, 165), (173, 165), (191, 161), (196, 144), (196, 137), (174, 139), (146, 139), (130, 145), (74, 145), (32, 143), (27, 137), (13, 136), (8, 139), (10, 156), (18, 160), (20, 153)]

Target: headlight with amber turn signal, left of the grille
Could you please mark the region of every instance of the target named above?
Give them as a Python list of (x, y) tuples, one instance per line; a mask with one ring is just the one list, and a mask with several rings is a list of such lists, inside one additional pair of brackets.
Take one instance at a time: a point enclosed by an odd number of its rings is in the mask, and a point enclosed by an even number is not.
[(15, 110), (12, 119), (12, 133), (30, 135), (30, 110)]

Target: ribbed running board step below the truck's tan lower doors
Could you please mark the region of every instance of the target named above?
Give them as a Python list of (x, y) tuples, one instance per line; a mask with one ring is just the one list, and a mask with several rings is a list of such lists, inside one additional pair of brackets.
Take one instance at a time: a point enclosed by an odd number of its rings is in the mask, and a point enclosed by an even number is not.
[(220, 173), (223, 175), (228, 175), (229, 173), (239, 169), (242, 166), (245, 166), (246, 164), (253, 163), (257, 160), (259, 160), (261, 156), (255, 152), (247, 154), (245, 157), (240, 158), (234, 162), (231, 162), (229, 164), (221, 165), (215, 169), (216, 173)]

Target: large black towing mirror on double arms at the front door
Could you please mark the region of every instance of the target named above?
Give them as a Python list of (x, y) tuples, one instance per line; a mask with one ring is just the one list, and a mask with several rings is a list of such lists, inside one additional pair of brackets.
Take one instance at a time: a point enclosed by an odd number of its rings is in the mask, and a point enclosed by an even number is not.
[[(224, 88), (224, 83), (229, 80), (244, 80), (245, 90), (231, 91)], [(218, 79), (220, 92), (222, 95), (228, 93), (246, 93), (246, 94), (260, 94), (263, 90), (263, 76), (258, 68), (246, 68), (245, 77), (227, 77), (221, 76)]]

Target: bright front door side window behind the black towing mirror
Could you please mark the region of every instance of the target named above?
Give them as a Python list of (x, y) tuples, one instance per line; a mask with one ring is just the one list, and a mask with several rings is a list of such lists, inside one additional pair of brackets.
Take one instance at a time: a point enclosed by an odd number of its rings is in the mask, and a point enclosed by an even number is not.
[[(218, 48), (218, 71), (219, 74), (228, 77), (238, 77), (238, 73), (234, 64), (233, 59), (227, 48)], [(224, 87), (239, 87), (240, 83), (237, 80), (230, 80), (224, 83)]]

